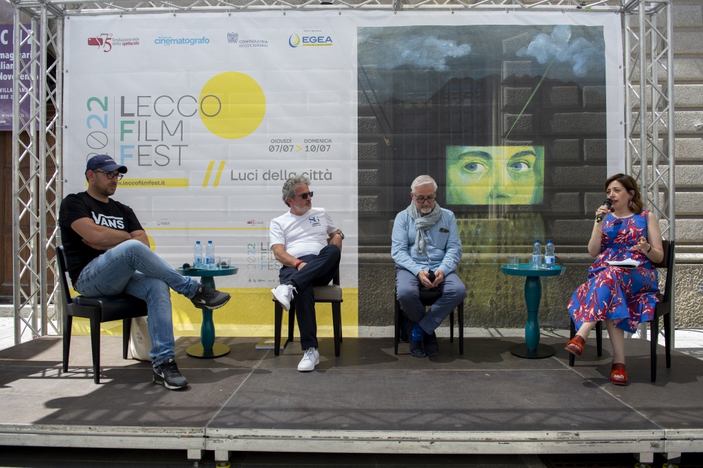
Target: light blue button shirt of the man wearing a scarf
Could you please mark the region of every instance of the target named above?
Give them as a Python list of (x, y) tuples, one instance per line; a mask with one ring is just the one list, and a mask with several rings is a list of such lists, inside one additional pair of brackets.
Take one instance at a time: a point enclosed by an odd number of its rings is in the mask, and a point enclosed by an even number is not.
[(403, 210), (393, 224), (391, 256), (396, 265), (417, 276), (420, 271), (441, 270), (449, 275), (461, 261), (461, 240), (456, 219), (449, 209), (441, 209), (441, 218), (428, 228), (425, 254), (415, 251), (415, 220)]

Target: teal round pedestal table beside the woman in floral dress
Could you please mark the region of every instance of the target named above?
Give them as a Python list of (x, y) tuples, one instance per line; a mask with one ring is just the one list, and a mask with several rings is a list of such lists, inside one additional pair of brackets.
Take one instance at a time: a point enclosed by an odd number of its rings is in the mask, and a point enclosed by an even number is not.
[(525, 277), (525, 304), (527, 305), (527, 324), (525, 325), (525, 342), (516, 344), (510, 348), (510, 352), (515, 356), (527, 359), (541, 359), (554, 356), (555, 350), (552, 346), (539, 344), (539, 303), (542, 300), (543, 276), (559, 276), (564, 274), (566, 267), (555, 265), (550, 269), (531, 268), (528, 264), (520, 264), (517, 268), (508, 265), (501, 266), (501, 270), (506, 275)]

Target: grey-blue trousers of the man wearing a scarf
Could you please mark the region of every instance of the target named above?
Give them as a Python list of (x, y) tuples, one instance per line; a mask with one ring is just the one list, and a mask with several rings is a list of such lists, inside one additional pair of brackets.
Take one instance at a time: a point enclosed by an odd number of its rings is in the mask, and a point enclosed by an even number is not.
[(411, 322), (418, 323), (428, 334), (439, 327), (442, 320), (466, 297), (466, 287), (456, 272), (449, 273), (437, 287), (441, 296), (430, 310), (425, 313), (425, 306), (420, 303), (420, 279), (403, 268), (396, 267), (396, 288), (398, 302)]

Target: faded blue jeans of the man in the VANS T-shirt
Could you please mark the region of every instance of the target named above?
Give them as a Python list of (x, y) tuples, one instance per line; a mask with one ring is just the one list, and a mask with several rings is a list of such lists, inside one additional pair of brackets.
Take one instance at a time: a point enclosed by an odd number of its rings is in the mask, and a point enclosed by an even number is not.
[(75, 284), (85, 297), (113, 296), (126, 292), (146, 301), (152, 365), (175, 356), (176, 341), (169, 288), (191, 298), (198, 291), (197, 278), (181, 276), (172, 266), (138, 240), (127, 240), (87, 264)]

